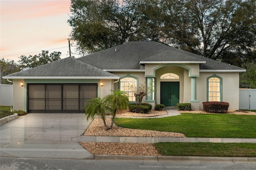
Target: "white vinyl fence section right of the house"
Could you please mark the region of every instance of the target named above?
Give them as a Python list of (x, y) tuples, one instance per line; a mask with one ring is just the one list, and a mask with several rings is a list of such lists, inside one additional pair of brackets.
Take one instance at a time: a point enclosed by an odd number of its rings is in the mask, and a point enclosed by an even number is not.
[(256, 89), (239, 89), (239, 109), (256, 110)]

